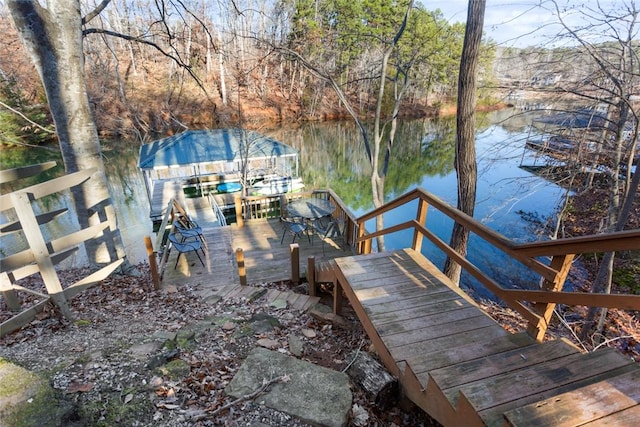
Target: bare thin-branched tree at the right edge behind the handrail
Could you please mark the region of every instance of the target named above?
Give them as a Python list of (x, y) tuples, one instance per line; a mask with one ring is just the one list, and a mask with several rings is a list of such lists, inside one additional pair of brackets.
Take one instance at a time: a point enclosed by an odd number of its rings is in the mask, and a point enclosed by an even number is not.
[[(563, 28), (558, 40), (577, 43), (571, 60), (585, 64), (588, 73), (577, 81), (564, 84), (562, 89), (590, 104), (606, 106), (606, 123), (598, 141), (600, 149), (596, 161), (609, 183), (608, 210), (602, 231), (621, 231), (629, 218), (640, 182), (640, 174), (634, 174), (633, 178), (631, 174), (640, 119), (640, 110), (633, 102), (633, 98), (640, 95), (637, 42), (640, 10), (634, 0), (615, 4), (611, 10), (600, 3), (585, 5), (574, 12), (580, 17), (580, 24), (572, 25), (560, 2), (553, 1), (552, 5)], [(598, 37), (594, 38), (594, 34)], [(604, 255), (592, 292), (611, 291), (614, 258), (613, 252)], [(598, 311), (597, 307), (589, 309), (581, 333), (583, 339), (593, 327)], [(602, 330), (605, 316), (606, 309), (603, 309), (598, 332)]]

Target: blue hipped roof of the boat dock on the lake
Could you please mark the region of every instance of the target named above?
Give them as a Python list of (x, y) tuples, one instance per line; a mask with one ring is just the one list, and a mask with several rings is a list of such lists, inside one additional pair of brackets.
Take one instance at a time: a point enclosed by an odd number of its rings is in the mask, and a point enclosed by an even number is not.
[[(245, 154), (247, 148), (248, 156)], [(198, 163), (240, 161), (296, 156), (298, 153), (275, 139), (244, 129), (189, 130), (140, 147), (138, 167), (160, 169)]]

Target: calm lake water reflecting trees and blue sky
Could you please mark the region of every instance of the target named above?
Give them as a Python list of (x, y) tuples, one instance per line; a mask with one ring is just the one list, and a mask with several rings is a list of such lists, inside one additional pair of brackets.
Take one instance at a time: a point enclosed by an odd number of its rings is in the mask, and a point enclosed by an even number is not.
[[(503, 110), (482, 116), (479, 120), (476, 141), (479, 177), (475, 217), (516, 241), (533, 241), (539, 237), (531, 222), (524, 220), (523, 216), (546, 218), (553, 215), (564, 191), (519, 167), (523, 156), (525, 160), (529, 157), (529, 153), (524, 151), (524, 142), (530, 117), (520, 115), (509, 118), (513, 113)], [(386, 200), (422, 187), (455, 205), (454, 126), (453, 119), (401, 123), (385, 183)], [(332, 188), (356, 216), (372, 209), (370, 166), (359, 134), (351, 122), (308, 123), (295, 128), (262, 132), (300, 151), (300, 167), (307, 189)], [(48, 152), (38, 151), (43, 150), (30, 150), (32, 154), (27, 163), (38, 163), (51, 157)], [(131, 262), (145, 261), (144, 236), (154, 236), (148, 220), (149, 204), (144, 183), (136, 167), (137, 145), (127, 144), (117, 152), (105, 148), (104, 156), (125, 250)], [(3, 160), (2, 168), (16, 166), (7, 162), (6, 158)], [(49, 210), (66, 204), (66, 198), (47, 199), (42, 203), (42, 209)], [(0, 214), (0, 222), (10, 219), (6, 215), (7, 212)], [(385, 217), (385, 225), (406, 221), (414, 215), (415, 206), (394, 211)], [(64, 215), (62, 219), (52, 225), (55, 229), (45, 230), (45, 233), (59, 235), (62, 229), (77, 227), (73, 223), (73, 215)], [(451, 223), (442, 215), (430, 211), (427, 225), (435, 227), (442, 239), (449, 240)], [(373, 225), (370, 228), (373, 229)], [(408, 236), (408, 233), (388, 236), (385, 240), (387, 249), (404, 247)], [(0, 250), (4, 255), (26, 246), (14, 235), (2, 239)], [(437, 265), (444, 264), (444, 257), (430, 245), (425, 244), (423, 252)], [(503, 254), (478, 239), (471, 240), (469, 258), (481, 269), (492, 270), (492, 276), (507, 286), (530, 287), (536, 284), (535, 279), (517, 262), (507, 263)], [(488, 263), (487, 260), (492, 262)], [(75, 264), (83, 262), (82, 254), (71, 261)], [(463, 277), (462, 284), (488, 296), (468, 277)]]

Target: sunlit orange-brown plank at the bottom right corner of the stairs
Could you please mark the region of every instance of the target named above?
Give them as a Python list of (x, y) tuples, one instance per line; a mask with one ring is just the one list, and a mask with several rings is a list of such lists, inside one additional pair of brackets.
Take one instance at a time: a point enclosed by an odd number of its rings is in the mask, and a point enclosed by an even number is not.
[(513, 409), (504, 416), (518, 427), (572, 427), (596, 420), (607, 422), (605, 417), (638, 404), (640, 369)]

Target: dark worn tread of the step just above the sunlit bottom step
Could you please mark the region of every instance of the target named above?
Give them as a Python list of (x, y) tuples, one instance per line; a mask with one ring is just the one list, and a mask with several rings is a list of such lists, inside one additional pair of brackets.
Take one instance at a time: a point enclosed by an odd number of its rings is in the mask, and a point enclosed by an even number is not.
[(444, 393), (452, 402), (457, 401), (459, 392), (463, 393), (479, 412), (630, 363), (632, 362), (610, 349), (588, 354), (570, 354), (546, 363), (464, 384), (461, 387), (452, 387), (444, 390)]

